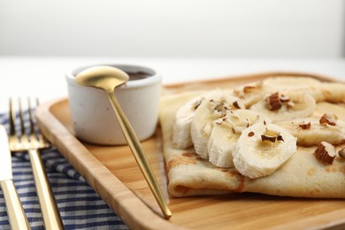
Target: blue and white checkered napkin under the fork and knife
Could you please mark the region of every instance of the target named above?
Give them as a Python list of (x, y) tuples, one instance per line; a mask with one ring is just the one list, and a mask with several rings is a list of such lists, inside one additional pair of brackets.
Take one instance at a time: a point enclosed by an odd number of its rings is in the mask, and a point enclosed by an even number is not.
[[(8, 126), (7, 114), (0, 114), (0, 123)], [(57, 149), (42, 150), (42, 161), (46, 166), (65, 229), (128, 229)], [(27, 154), (13, 154), (12, 168), (14, 184), (30, 226), (32, 229), (44, 229)], [(0, 229), (11, 229), (1, 190)]]

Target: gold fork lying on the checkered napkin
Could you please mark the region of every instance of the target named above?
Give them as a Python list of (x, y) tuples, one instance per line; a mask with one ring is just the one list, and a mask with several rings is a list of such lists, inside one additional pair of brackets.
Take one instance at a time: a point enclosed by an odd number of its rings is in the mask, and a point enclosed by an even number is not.
[[(38, 100), (36, 100), (38, 105)], [(30, 126), (26, 133), (24, 126), (24, 112), (19, 99), (19, 120), (20, 131), (16, 131), (16, 114), (13, 109), (12, 98), (10, 98), (10, 149), (12, 152), (27, 151), (33, 169), (35, 187), (38, 201), (42, 210), (42, 218), (45, 229), (64, 229), (58, 206), (50, 188), (50, 182), (42, 164), (40, 149), (50, 146), (50, 143), (42, 137), (42, 134), (35, 132), (35, 121), (30, 99), (27, 98), (27, 107), (30, 119)]]

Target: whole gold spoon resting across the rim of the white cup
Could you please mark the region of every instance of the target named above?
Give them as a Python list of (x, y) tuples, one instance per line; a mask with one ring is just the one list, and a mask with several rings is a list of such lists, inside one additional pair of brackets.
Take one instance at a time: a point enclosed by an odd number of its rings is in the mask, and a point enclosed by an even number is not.
[(155, 196), (160, 209), (163, 211), (165, 219), (170, 219), (172, 217), (172, 212), (166, 204), (165, 196), (163, 196), (162, 190), (157, 183), (157, 179), (149, 166), (149, 161), (142, 150), (142, 146), (134, 133), (132, 126), (128, 122), (128, 119), (126, 119), (126, 115), (122, 111), (114, 94), (114, 88), (124, 84), (128, 79), (129, 77), (125, 72), (111, 66), (90, 67), (75, 76), (75, 81), (78, 84), (94, 88), (102, 88), (107, 93), (108, 99), (111, 102), (112, 110), (115, 112), (116, 118), (119, 121), (119, 126), (126, 138), (126, 142), (128, 142), (129, 148), (132, 150), (135, 160), (142, 170), (145, 180), (149, 184), (149, 188)]

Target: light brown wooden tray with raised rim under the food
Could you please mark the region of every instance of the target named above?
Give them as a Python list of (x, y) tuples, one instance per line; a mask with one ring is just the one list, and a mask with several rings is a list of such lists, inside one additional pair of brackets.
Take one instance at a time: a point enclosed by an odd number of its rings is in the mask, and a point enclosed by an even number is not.
[[(188, 82), (164, 88), (164, 94), (206, 88), (229, 88), (277, 75), (306, 75), (320, 80), (330, 78), (305, 73), (260, 73), (219, 80)], [(257, 229), (326, 228), (344, 229), (345, 201), (232, 194), (173, 198), (168, 196), (165, 160), (159, 126), (142, 147), (165, 193), (173, 217), (163, 215), (126, 146), (105, 147), (80, 142), (73, 135), (68, 100), (44, 103), (36, 110), (42, 133), (89, 185), (133, 229)], [(345, 179), (344, 179), (345, 180)]]

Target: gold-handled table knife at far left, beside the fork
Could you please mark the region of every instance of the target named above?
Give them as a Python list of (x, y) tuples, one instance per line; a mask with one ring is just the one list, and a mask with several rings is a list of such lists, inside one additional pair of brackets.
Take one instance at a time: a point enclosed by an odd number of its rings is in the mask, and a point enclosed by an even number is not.
[(4, 194), (7, 215), (12, 229), (30, 229), (27, 216), (20, 203), (13, 183), (12, 157), (8, 145), (8, 136), (4, 126), (0, 125), (0, 186)]

